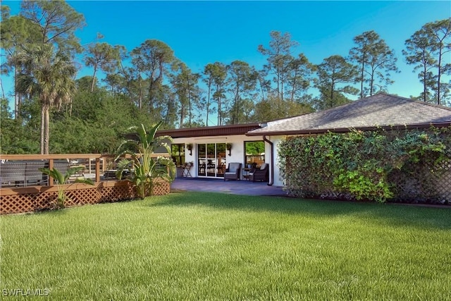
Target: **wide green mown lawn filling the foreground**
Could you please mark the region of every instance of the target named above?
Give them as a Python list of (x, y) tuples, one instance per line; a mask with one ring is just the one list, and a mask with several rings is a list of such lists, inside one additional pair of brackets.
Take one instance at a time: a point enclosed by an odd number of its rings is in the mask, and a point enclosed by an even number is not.
[(1, 216), (1, 236), (2, 295), (48, 289), (52, 300), (451, 296), (451, 209), (175, 192)]

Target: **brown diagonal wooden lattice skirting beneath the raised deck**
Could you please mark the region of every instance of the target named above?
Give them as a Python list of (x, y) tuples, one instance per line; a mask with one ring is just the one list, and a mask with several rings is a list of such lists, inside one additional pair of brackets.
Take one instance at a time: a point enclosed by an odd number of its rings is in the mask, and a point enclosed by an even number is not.
[[(56, 186), (0, 189), (0, 213), (16, 214), (51, 209), (56, 199)], [(159, 180), (152, 195), (168, 195), (169, 183)], [(103, 202), (118, 202), (137, 197), (128, 181), (109, 181), (96, 185), (71, 184), (66, 187), (66, 207)]]

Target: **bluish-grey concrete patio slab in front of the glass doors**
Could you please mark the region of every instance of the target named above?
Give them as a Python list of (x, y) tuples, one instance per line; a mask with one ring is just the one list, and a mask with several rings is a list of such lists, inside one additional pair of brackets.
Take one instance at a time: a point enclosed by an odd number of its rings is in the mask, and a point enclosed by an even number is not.
[(287, 195), (281, 186), (268, 186), (267, 184), (247, 180), (176, 178), (171, 184), (171, 190), (220, 192), (232, 195)]

